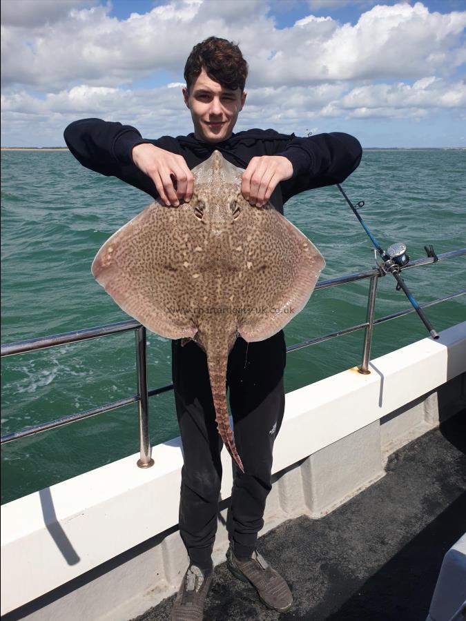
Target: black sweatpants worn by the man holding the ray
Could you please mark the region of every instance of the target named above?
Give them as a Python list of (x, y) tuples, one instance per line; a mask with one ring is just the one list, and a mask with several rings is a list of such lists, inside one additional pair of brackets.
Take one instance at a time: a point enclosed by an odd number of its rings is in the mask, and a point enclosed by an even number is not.
[[(179, 532), (193, 564), (211, 567), (222, 480), (222, 440), (215, 423), (206, 355), (194, 342), (172, 342), (173, 384), (182, 468)], [(235, 553), (249, 556), (264, 525), (271, 490), (272, 449), (284, 413), (284, 334), (247, 344), (237, 339), (229, 355), (229, 389), (233, 432), (245, 473), (235, 467), (231, 494), (230, 538)]]

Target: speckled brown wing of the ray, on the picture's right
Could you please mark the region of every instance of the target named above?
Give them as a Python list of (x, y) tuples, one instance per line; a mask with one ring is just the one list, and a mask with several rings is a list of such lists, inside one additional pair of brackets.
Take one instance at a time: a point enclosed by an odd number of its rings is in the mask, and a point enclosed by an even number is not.
[(302, 311), (325, 266), (314, 244), (278, 211), (252, 209), (242, 293), (251, 312), (239, 327), (248, 342), (273, 336)]

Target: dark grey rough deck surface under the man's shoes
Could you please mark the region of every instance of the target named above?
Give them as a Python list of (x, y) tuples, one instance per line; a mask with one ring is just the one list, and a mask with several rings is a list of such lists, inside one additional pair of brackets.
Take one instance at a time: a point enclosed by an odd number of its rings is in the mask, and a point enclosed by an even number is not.
[[(466, 531), (465, 490), (463, 412), (391, 455), (385, 477), (336, 511), (260, 538), (293, 592), (289, 612), (266, 609), (222, 564), (204, 619), (425, 621), (443, 556)], [(169, 619), (174, 598), (137, 621)]]

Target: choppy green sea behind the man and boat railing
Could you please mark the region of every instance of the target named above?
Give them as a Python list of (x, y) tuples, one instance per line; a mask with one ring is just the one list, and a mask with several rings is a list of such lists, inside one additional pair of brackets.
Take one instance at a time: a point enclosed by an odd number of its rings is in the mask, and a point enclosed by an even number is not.
[[(68, 151), (1, 152), (1, 342), (127, 319), (95, 282), (101, 244), (151, 202), (117, 179), (82, 168)], [(465, 150), (367, 150), (344, 188), (382, 246), (405, 242), (411, 259), (466, 246)], [(294, 197), (285, 215), (327, 261), (321, 279), (374, 266), (371, 242), (336, 187)], [(466, 285), (466, 259), (405, 273), (420, 304)], [(287, 344), (365, 321), (369, 281), (320, 290), (286, 328)], [(408, 308), (380, 279), (376, 316)], [(466, 319), (466, 296), (427, 309), (437, 331)], [(371, 357), (426, 337), (415, 313), (374, 328)], [(362, 331), (290, 353), (287, 392), (360, 363)], [(148, 333), (149, 388), (171, 382), (171, 346)], [(1, 433), (136, 393), (134, 333), (1, 361)], [(342, 411), (342, 416), (345, 412)], [(173, 392), (150, 400), (151, 442), (178, 435)], [(138, 453), (137, 405), (2, 448), (1, 502)], [(136, 467), (136, 466), (135, 466)]]

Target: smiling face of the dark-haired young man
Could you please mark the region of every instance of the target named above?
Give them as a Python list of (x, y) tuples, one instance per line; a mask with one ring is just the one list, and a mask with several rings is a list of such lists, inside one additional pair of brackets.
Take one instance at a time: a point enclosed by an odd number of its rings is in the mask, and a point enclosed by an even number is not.
[(183, 97), (191, 110), (195, 137), (206, 142), (221, 142), (231, 136), (246, 93), (240, 88), (224, 88), (202, 69), (191, 92), (183, 89)]

